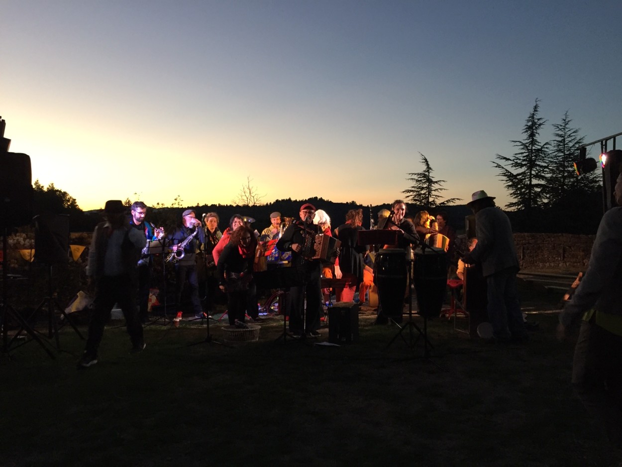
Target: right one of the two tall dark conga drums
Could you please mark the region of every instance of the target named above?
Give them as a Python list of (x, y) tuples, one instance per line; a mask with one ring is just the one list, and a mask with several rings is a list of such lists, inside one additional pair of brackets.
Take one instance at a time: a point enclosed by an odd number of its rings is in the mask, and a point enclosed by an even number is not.
[(417, 291), (417, 313), (424, 318), (439, 316), (447, 287), (447, 253), (441, 248), (415, 250), (413, 280)]

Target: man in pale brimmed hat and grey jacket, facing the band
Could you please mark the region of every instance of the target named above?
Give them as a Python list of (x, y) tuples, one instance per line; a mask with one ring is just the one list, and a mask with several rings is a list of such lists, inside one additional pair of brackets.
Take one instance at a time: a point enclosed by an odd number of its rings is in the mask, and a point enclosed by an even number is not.
[(475, 214), (477, 245), (466, 253), (466, 264), (481, 263), (488, 285), (488, 319), (493, 326), (493, 342), (526, 341), (516, 288), (519, 271), (512, 226), (508, 216), (494, 204), (494, 197), (476, 191), (466, 205)]

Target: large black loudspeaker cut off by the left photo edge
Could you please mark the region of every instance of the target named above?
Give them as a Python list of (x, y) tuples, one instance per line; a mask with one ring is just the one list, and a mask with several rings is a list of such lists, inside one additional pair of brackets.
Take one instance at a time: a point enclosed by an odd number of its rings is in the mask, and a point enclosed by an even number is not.
[(0, 227), (20, 227), (31, 220), (30, 156), (0, 153)]

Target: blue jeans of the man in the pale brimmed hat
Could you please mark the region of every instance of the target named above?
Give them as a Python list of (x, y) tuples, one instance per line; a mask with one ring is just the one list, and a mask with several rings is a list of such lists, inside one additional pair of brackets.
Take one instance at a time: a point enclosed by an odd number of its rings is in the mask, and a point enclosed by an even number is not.
[(488, 321), (496, 339), (526, 334), (521, 303), (516, 289), (516, 268), (506, 268), (486, 277), (488, 284)]

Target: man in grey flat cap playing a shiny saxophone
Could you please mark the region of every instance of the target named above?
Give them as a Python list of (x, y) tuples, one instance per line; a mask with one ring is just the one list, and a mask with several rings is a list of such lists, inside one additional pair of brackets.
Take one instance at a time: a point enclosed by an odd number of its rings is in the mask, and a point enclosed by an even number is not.
[[(192, 239), (183, 245), (183, 249), (179, 248), (184, 240), (187, 240), (193, 234)], [(197, 246), (205, 242), (205, 232), (201, 228), (201, 221), (197, 219), (197, 213), (193, 209), (183, 211), (182, 226), (169, 235), (169, 240), (173, 245), (173, 252), (177, 253), (178, 250), (183, 252), (183, 254), (177, 254), (179, 260), (175, 262), (175, 302), (177, 303), (177, 311), (181, 311), (183, 286), (185, 283), (188, 283), (195, 318), (203, 318), (205, 314), (203, 314), (203, 307), (198, 298), (198, 276), (195, 260), (197, 258)]]

